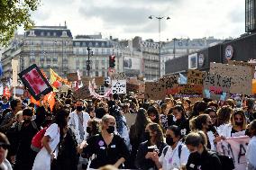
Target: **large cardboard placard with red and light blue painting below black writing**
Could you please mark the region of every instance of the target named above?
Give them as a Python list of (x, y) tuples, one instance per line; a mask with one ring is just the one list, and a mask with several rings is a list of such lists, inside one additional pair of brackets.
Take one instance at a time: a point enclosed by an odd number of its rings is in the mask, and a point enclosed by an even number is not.
[(203, 96), (213, 100), (225, 101), (230, 96), (231, 86), (231, 77), (208, 73), (204, 77)]

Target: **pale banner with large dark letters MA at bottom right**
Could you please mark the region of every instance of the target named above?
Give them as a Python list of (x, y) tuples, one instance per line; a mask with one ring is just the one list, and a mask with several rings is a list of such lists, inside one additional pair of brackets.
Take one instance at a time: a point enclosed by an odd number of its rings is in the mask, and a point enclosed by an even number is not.
[(247, 136), (233, 137), (217, 143), (217, 152), (233, 158), (234, 169), (246, 169), (245, 153), (250, 138)]

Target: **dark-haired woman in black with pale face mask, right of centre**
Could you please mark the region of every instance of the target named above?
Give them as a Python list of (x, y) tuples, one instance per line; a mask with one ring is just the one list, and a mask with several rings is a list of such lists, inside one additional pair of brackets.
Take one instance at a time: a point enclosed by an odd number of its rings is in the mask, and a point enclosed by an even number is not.
[(186, 113), (181, 105), (176, 105), (171, 109), (172, 114), (168, 117), (168, 125), (176, 125), (180, 128), (182, 135), (187, 135), (190, 131)]

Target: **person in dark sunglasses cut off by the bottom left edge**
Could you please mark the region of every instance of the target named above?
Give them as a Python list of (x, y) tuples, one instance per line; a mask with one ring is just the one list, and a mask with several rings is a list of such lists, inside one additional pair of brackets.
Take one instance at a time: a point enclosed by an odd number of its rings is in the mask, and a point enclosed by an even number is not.
[(13, 170), (10, 162), (6, 159), (10, 143), (4, 133), (0, 132), (0, 169)]

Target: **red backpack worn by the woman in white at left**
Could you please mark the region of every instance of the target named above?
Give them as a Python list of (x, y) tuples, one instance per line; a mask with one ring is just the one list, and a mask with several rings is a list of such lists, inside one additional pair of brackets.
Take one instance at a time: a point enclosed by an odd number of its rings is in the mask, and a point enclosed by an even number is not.
[(41, 139), (43, 138), (46, 130), (48, 127), (44, 127), (43, 129), (39, 130), (32, 138), (32, 145), (31, 148), (35, 152), (39, 152), (42, 148)]

